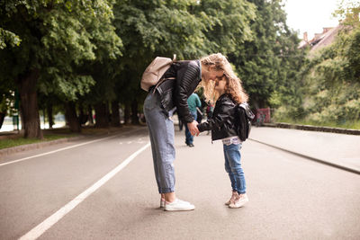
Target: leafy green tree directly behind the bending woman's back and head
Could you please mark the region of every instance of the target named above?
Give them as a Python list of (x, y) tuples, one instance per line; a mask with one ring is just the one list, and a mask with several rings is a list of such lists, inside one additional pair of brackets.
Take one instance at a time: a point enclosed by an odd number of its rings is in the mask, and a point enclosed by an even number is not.
[(229, 52), (251, 38), (248, 22), (255, 17), (253, 4), (235, 0), (122, 1), (115, 4), (114, 15), (124, 44), (118, 98), (125, 112), (135, 111), (133, 116), (145, 98), (140, 76), (153, 58), (176, 54), (177, 59), (194, 59)]

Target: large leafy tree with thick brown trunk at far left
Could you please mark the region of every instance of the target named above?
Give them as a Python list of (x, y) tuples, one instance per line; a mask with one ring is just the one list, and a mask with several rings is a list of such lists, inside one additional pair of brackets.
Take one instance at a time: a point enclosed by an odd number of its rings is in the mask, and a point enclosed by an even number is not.
[(110, 24), (112, 2), (13, 0), (1, 2), (0, 9), (0, 27), (22, 40), (19, 47), (0, 51), (0, 82), (17, 84), (25, 138), (42, 138), (40, 84), (45, 93), (75, 101), (94, 84), (92, 76), (78, 69), (96, 59), (96, 51), (112, 58), (120, 54), (121, 40)]

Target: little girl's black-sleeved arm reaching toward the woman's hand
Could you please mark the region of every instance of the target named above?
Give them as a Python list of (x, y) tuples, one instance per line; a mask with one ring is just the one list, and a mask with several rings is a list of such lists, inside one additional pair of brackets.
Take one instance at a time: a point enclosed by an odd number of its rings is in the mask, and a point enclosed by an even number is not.
[(233, 107), (234, 105), (230, 102), (220, 102), (220, 106), (218, 106), (220, 111), (213, 115), (211, 120), (206, 120), (197, 125), (197, 128), (200, 132), (220, 128), (229, 119), (229, 114)]

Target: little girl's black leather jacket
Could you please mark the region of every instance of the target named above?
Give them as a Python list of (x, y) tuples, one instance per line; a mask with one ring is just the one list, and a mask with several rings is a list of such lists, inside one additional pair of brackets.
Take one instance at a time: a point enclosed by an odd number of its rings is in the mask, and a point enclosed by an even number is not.
[(238, 120), (236, 120), (236, 106), (229, 94), (222, 94), (215, 104), (212, 118), (197, 125), (199, 131), (211, 130), (211, 139), (219, 140), (238, 136)]

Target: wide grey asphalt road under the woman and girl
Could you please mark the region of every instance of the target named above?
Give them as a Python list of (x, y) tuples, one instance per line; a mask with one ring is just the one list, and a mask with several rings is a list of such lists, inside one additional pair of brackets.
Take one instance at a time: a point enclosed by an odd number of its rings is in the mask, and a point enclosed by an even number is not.
[[(7, 156), (0, 161), (0, 239), (44, 222), (49, 229), (39, 239), (360, 239), (358, 174), (247, 140), (241, 153), (249, 202), (229, 209), (221, 143), (205, 133), (189, 148), (176, 130), (176, 194), (196, 209), (165, 212), (147, 144), (146, 128), (124, 128)], [(79, 197), (116, 167), (108, 182)], [(67, 214), (47, 221), (75, 199)]]

